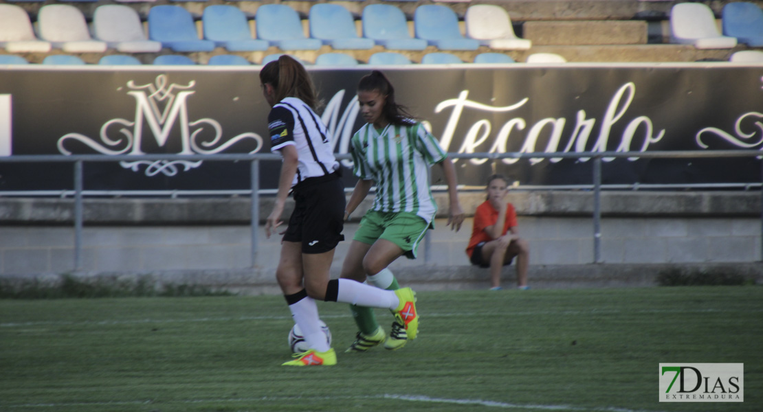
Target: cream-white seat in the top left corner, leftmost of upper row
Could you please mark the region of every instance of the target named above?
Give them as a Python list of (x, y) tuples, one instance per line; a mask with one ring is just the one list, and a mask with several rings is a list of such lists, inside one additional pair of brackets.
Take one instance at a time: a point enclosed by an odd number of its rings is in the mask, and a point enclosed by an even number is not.
[(0, 5), (0, 47), (9, 53), (47, 53), (51, 46), (34, 35), (27, 11), (17, 5)]

